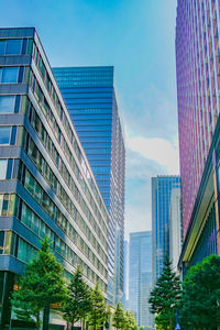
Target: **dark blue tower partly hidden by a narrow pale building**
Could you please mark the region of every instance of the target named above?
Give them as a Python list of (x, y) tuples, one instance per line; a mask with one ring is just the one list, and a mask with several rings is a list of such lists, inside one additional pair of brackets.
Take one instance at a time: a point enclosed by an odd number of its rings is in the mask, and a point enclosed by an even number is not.
[(169, 255), (169, 207), (172, 189), (180, 187), (179, 176), (152, 177), (153, 282), (160, 277)]

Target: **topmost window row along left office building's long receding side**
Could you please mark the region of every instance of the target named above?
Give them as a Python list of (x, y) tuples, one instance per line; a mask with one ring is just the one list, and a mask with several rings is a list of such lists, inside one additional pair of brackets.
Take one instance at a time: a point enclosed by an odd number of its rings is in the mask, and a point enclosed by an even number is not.
[[(66, 117), (66, 114), (65, 114), (65, 111), (64, 111), (63, 108), (62, 108), (62, 105), (61, 105), (61, 102), (59, 102), (59, 98), (58, 98), (58, 96), (56, 95), (55, 88), (54, 88), (54, 86), (53, 86), (53, 84), (52, 84), (52, 80), (51, 80), (51, 78), (50, 78), (50, 74), (48, 74), (47, 70), (46, 70), (46, 67), (45, 67), (45, 65), (44, 65), (44, 63), (43, 63), (43, 59), (42, 59), (42, 56), (41, 56), (41, 54), (40, 54), (40, 52), (38, 52), (38, 50), (37, 50), (37, 47), (36, 47), (35, 44), (33, 45), (33, 55), (32, 55), (32, 56), (33, 56), (33, 59), (34, 59), (34, 63), (35, 63), (36, 67), (37, 67), (38, 70), (40, 70), (41, 77), (42, 77), (42, 79), (43, 79), (43, 81), (44, 81), (44, 84), (45, 84), (45, 87), (46, 87), (46, 89), (47, 89), (50, 96), (51, 96), (51, 99), (52, 99), (52, 101), (53, 101), (53, 103), (54, 103), (54, 106), (55, 106), (55, 109), (56, 109), (56, 111), (57, 111), (57, 113), (58, 113), (58, 116), (59, 116), (59, 119), (61, 119), (61, 121), (62, 121), (63, 124), (64, 124), (64, 128), (65, 128), (65, 130), (66, 130), (67, 136), (68, 136), (70, 143), (75, 146), (75, 148), (78, 150), (78, 151), (76, 152), (76, 154), (78, 155), (78, 160), (79, 160), (79, 162), (81, 163), (81, 162), (84, 161), (84, 156), (82, 156), (82, 154), (81, 154), (81, 152), (80, 152), (80, 148), (79, 148), (79, 146), (78, 146), (78, 142), (77, 142), (77, 140), (75, 139), (75, 133), (74, 133), (74, 131), (72, 130), (72, 127), (70, 127), (70, 124), (69, 124), (69, 122), (68, 122), (68, 120), (67, 120), (67, 117)], [(37, 84), (37, 81), (36, 81), (36, 79), (35, 79), (35, 77), (34, 77), (33, 74), (32, 74), (31, 81), (32, 81), (32, 82), (35, 81), (35, 82)], [(34, 87), (34, 86), (33, 86), (33, 84), (32, 84), (32, 90), (34, 90), (33, 87)], [(47, 108), (47, 110), (51, 111), (50, 108)], [(85, 161), (84, 161), (84, 163), (85, 163)], [(85, 165), (86, 165), (86, 163), (85, 163)], [(85, 166), (84, 166), (84, 167), (85, 167)], [(88, 170), (87, 166), (85, 167), (85, 174), (86, 174), (86, 175), (89, 175), (89, 170)], [(102, 201), (101, 201), (101, 198), (100, 198), (100, 196), (99, 196), (98, 189), (97, 189), (97, 187), (96, 187), (96, 185), (95, 185), (95, 183), (94, 183), (94, 179), (90, 177), (90, 175), (89, 175), (88, 178), (89, 178), (90, 187), (91, 187), (91, 189), (92, 189), (92, 191), (94, 191), (94, 194), (95, 194), (95, 196), (96, 196), (96, 199), (97, 199), (97, 201), (98, 201), (98, 204), (99, 204), (99, 207), (101, 208), (101, 211), (102, 211), (102, 213), (103, 213), (103, 216), (105, 216), (105, 219), (106, 219), (106, 221), (108, 221), (108, 215), (107, 215), (107, 212), (106, 212), (106, 209), (105, 209), (103, 204), (102, 204)]]

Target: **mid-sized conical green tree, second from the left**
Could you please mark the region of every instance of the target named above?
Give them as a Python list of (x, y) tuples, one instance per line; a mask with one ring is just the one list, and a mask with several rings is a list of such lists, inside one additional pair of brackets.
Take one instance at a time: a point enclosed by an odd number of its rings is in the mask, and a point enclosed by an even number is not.
[(82, 268), (78, 266), (68, 285), (68, 297), (62, 307), (64, 319), (73, 326), (80, 319), (85, 321), (91, 306), (91, 292), (84, 282)]

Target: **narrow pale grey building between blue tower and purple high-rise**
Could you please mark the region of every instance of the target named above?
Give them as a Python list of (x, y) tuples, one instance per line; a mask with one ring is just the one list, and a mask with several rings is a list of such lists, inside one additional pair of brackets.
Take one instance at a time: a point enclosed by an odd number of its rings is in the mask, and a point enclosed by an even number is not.
[(180, 211), (180, 188), (173, 188), (169, 206), (169, 260), (174, 271), (177, 272), (177, 264), (182, 253), (182, 211)]

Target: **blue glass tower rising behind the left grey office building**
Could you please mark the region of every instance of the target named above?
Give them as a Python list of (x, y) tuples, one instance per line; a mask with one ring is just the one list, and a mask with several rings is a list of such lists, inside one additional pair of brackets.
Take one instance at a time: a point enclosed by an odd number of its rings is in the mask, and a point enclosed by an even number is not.
[(109, 301), (117, 302), (123, 295), (125, 150), (113, 67), (53, 70), (110, 212)]

